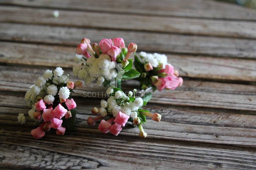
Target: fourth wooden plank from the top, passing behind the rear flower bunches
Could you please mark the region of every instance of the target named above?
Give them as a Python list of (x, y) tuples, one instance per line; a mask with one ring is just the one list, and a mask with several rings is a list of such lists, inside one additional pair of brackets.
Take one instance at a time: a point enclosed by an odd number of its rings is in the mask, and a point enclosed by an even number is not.
[[(0, 62), (72, 68), (75, 47), (0, 42)], [(256, 81), (255, 60), (167, 55), (181, 76), (220, 80)], [(61, 62), (60, 62), (61, 61)]]

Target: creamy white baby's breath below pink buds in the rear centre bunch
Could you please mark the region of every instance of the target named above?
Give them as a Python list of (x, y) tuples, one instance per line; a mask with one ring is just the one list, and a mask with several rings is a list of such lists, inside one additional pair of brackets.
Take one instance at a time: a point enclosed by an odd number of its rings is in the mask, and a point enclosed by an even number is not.
[[(79, 62), (81, 59), (79, 55), (76, 55), (75, 61)], [(105, 80), (116, 78), (117, 71), (115, 62), (111, 61), (110, 56), (101, 54), (99, 58), (89, 57), (83, 66), (73, 67), (73, 74), (90, 86), (95, 81), (97, 85), (102, 85)]]

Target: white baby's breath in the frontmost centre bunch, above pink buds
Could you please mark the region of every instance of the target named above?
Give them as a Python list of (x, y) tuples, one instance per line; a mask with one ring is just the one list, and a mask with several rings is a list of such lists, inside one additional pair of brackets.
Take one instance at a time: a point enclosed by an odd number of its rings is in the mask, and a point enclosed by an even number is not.
[[(107, 90), (108, 94), (113, 93), (113, 88), (109, 87)], [(119, 111), (126, 115), (136, 118), (137, 110), (143, 105), (143, 99), (137, 97), (133, 102), (129, 102), (129, 97), (126, 96), (122, 91), (115, 92), (114, 97), (108, 98), (108, 101), (101, 100), (100, 114), (101, 116), (107, 116), (107, 113), (113, 114), (115, 117)]]

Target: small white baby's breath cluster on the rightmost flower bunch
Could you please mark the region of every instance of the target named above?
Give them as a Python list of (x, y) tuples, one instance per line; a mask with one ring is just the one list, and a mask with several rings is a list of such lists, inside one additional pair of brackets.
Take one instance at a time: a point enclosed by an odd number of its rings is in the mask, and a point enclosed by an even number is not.
[(165, 65), (167, 64), (167, 57), (164, 54), (149, 54), (145, 53), (143, 51), (140, 52), (141, 56), (141, 62), (143, 64), (150, 63), (153, 67), (157, 67), (159, 64), (163, 64), (163, 68), (165, 68)]

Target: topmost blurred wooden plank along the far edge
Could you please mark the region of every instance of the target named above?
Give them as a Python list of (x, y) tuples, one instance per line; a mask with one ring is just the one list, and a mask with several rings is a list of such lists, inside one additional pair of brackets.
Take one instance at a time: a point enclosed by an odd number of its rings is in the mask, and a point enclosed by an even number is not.
[[(179, 16), (210, 19), (256, 20), (256, 12), (238, 5), (210, 0), (2, 0), (2, 5), (19, 5), (37, 8), (72, 9), (82, 11), (100, 11), (128, 13), (148, 16)], [(117, 14), (117, 15), (118, 15)]]

